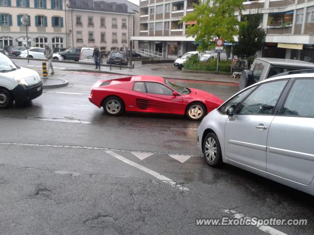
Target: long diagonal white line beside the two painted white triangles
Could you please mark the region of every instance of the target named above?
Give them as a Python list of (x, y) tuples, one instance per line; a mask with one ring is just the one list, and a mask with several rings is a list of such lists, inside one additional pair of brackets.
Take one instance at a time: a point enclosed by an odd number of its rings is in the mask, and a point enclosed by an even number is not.
[(119, 154), (117, 154), (117, 153), (115, 153), (115, 152), (112, 152), (112, 151), (105, 151), (105, 152), (106, 152), (107, 154), (111, 155), (112, 157), (115, 157), (116, 159), (118, 159), (118, 160), (120, 160), (120, 161), (122, 161), (122, 162), (124, 162), (124, 163), (126, 163), (126, 164), (129, 164), (129, 165), (131, 165), (131, 166), (134, 166), (134, 167), (136, 167), (137, 169), (140, 169), (140, 170), (142, 170), (142, 171), (144, 171), (144, 172), (146, 172), (146, 173), (148, 173), (148, 174), (150, 174), (150, 175), (156, 177), (158, 180), (161, 180), (162, 182), (164, 182), (164, 183), (166, 183), (166, 184), (169, 184), (169, 185), (171, 185), (172, 187), (179, 188), (179, 189), (182, 190), (182, 191), (189, 191), (189, 190), (190, 190), (190, 189), (188, 189), (188, 188), (182, 187), (181, 185), (177, 185), (176, 182), (174, 182), (173, 180), (167, 178), (166, 176), (160, 175), (158, 172), (156, 172), (156, 171), (154, 171), (154, 170), (151, 170), (151, 169), (149, 169), (149, 168), (147, 168), (147, 167), (145, 167), (145, 166), (142, 166), (142, 165), (140, 165), (140, 164), (134, 163), (134, 162), (132, 162), (131, 160), (126, 159), (126, 158), (122, 157), (121, 155), (119, 155)]

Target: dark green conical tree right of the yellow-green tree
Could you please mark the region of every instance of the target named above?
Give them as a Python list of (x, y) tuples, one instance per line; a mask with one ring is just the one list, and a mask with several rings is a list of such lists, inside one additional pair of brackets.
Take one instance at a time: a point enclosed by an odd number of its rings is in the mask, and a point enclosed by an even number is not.
[(261, 14), (244, 17), (239, 25), (238, 43), (234, 46), (234, 54), (243, 59), (254, 59), (257, 51), (262, 49), (265, 42), (265, 30), (260, 27)]

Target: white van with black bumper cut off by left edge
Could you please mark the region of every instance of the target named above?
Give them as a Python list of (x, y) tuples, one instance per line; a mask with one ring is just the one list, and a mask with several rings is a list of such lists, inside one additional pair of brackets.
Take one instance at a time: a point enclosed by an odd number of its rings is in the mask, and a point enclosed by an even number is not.
[(0, 108), (11, 106), (13, 101), (24, 103), (43, 93), (43, 82), (36, 71), (14, 64), (0, 53)]

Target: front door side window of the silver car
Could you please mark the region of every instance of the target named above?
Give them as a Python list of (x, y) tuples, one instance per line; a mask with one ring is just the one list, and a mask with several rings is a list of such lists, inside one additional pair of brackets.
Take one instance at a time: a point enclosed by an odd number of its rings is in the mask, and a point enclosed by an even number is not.
[(264, 83), (236, 109), (241, 115), (271, 115), (287, 80)]

